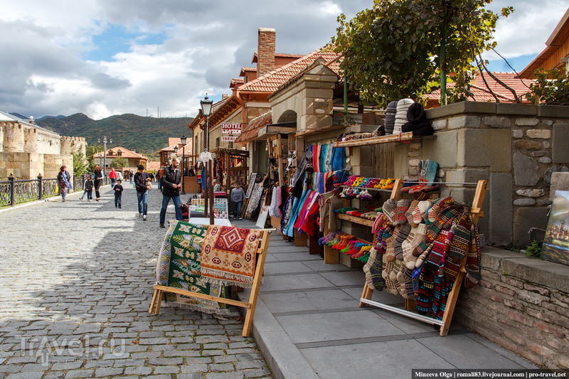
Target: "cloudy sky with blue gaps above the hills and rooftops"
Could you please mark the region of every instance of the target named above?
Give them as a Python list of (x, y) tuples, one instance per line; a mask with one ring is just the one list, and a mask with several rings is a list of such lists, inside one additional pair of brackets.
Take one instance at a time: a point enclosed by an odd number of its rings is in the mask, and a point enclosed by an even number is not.
[[(497, 50), (521, 70), (545, 48), (566, 0), (494, 0)], [(36, 118), (83, 112), (193, 117), (206, 92), (230, 93), (250, 67), (257, 29), (277, 30), (277, 53), (329, 42), (336, 17), (372, 0), (1, 1), (0, 110)], [(490, 60), (498, 57), (488, 56)], [(509, 70), (493, 61), (493, 70)]]

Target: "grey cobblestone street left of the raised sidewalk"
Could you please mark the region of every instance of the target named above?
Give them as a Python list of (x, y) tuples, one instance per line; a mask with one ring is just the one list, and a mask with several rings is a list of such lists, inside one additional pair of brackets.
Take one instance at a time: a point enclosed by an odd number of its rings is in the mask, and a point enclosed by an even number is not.
[(123, 183), (122, 209), (106, 186), (0, 213), (0, 379), (271, 378), (237, 309), (148, 313), (161, 193), (143, 221)]

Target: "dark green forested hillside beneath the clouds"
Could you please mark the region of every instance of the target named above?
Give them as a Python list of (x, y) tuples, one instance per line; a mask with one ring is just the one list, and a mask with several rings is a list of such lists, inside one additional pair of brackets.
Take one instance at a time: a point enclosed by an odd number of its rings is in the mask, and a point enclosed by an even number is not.
[(107, 149), (122, 146), (157, 160), (160, 149), (168, 146), (168, 138), (191, 137), (187, 125), (193, 117), (154, 118), (136, 114), (120, 114), (106, 119), (94, 120), (83, 113), (72, 114), (61, 119), (43, 119), (40, 127), (53, 130), (62, 136), (85, 137), (89, 145), (102, 145), (97, 142), (107, 136)]

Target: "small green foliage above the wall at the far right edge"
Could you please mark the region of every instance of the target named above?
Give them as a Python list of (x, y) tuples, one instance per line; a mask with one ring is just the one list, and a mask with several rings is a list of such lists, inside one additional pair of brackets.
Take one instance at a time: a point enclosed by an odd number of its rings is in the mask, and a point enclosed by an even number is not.
[(569, 103), (569, 75), (565, 68), (543, 70), (538, 68), (533, 72), (536, 82), (530, 85), (531, 92), (526, 99), (533, 104), (565, 104)]

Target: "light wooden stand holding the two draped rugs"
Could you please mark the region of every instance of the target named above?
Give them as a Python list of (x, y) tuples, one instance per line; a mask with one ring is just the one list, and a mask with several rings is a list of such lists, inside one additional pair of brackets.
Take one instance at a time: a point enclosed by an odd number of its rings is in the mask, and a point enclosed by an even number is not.
[(152, 295), (152, 301), (150, 303), (149, 313), (159, 314), (160, 304), (162, 297), (165, 292), (171, 294), (181, 294), (187, 297), (195, 297), (197, 299), (217, 301), (221, 304), (228, 304), (233, 306), (239, 306), (241, 308), (247, 309), (245, 314), (245, 324), (243, 325), (243, 337), (248, 337), (251, 333), (251, 325), (253, 322), (253, 315), (255, 314), (255, 306), (257, 306), (257, 297), (259, 295), (259, 287), (261, 285), (262, 272), (265, 267), (265, 258), (267, 257), (267, 248), (269, 247), (270, 230), (263, 230), (261, 235), (261, 245), (257, 247), (257, 264), (255, 265), (255, 274), (253, 276), (253, 285), (251, 288), (251, 293), (249, 295), (249, 301), (238, 301), (233, 299), (225, 299), (223, 297), (216, 297), (206, 294), (198, 294), (196, 292), (186, 291), (185, 289), (166, 287), (156, 284), (154, 286), (154, 295)]

